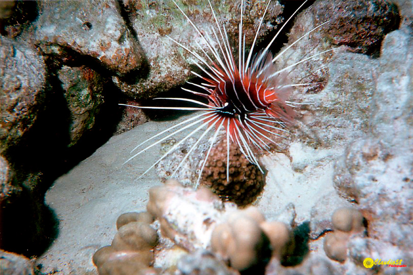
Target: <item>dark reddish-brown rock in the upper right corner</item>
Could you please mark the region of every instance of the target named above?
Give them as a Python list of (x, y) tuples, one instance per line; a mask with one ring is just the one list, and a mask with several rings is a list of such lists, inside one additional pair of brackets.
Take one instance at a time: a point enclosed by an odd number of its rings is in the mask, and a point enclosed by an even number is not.
[(400, 21), (397, 6), (391, 1), (317, 1), (311, 9), (317, 24), (329, 20), (323, 31), (333, 44), (365, 54), (378, 53), (384, 36), (396, 30)]

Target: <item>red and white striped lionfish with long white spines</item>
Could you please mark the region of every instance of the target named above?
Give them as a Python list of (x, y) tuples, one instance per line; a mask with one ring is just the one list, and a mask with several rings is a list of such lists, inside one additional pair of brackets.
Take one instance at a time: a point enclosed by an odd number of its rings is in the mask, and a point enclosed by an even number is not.
[[(274, 62), (283, 54), (285, 51), (289, 50), (294, 44), (299, 40), (319, 29), (322, 25), (326, 24), (324, 22), (313, 30), (305, 33), (294, 43), (289, 45), (287, 48), (282, 50), (277, 56), (273, 57), (270, 52), (270, 47), (274, 40), (277, 38), (282, 29), (287, 25), (287, 23), (294, 17), (294, 15), (301, 9), (302, 6), (308, 1), (305, 1), (298, 9), (288, 18), (285, 23), (281, 26), (272, 40), (268, 45), (257, 52), (254, 52), (254, 47), (256, 45), (256, 40), (259, 35), (261, 26), (264, 21), (264, 17), (267, 13), (268, 7), (271, 0), (268, 1), (266, 9), (263, 16), (261, 17), (260, 24), (257, 27), (255, 37), (252, 46), (249, 50), (248, 55), (245, 53), (245, 35), (242, 34), (243, 29), (243, 11), (244, 11), (244, 0), (241, 0), (241, 12), (240, 12), (240, 23), (239, 23), (239, 41), (238, 41), (238, 62), (235, 60), (233, 51), (229, 43), (228, 35), (225, 29), (225, 25), (220, 26), (214, 9), (211, 5), (211, 1), (208, 0), (209, 6), (213, 18), (215, 20), (215, 30), (212, 26), (212, 32), (215, 41), (208, 35), (204, 35), (201, 30), (194, 24), (194, 22), (188, 17), (188, 15), (176, 4), (174, 0), (171, 0), (179, 11), (185, 16), (188, 22), (192, 25), (196, 33), (205, 41), (209, 52), (204, 50), (199, 43), (199, 47), (202, 55), (198, 54), (196, 51), (191, 50), (182, 43), (169, 37), (174, 43), (188, 51), (196, 58), (197, 62), (195, 65), (203, 72), (204, 75), (200, 75), (194, 71), (192, 74), (203, 80), (200, 84), (193, 82), (187, 82), (193, 87), (199, 89), (199, 91), (194, 91), (186, 88), (183, 90), (190, 92), (194, 95), (208, 99), (208, 104), (203, 103), (198, 100), (189, 98), (158, 98), (158, 99), (169, 99), (169, 100), (179, 100), (192, 102), (199, 107), (159, 107), (159, 106), (135, 106), (128, 104), (120, 104), (125, 106), (137, 107), (137, 108), (147, 108), (147, 109), (175, 109), (175, 110), (187, 110), (187, 111), (202, 111), (201, 114), (197, 114), (183, 122), (177, 123), (176, 125), (161, 131), (160, 133), (152, 136), (150, 139), (136, 146), (132, 152), (141, 147), (143, 144), (162, 136), (163, 134), (171, 131), (175, 128), (172, 133), (167, 134), (160, 140), (152, 143), (151, 145), (140, 150), (132, 157), (125, 161), (128, 162), (135, 158), (139, 154), (143, 153), (147, 149), (165, 141), (171, 136), (182, 132), (190, 127), (197, 126), (193, 131), (184, 137), (184, 139), (177, 142), (172, 148), (170, 148), (162, 157), (160, 157), (155, 163), (152, 164), (142, 175), (145, 175), (150, 169), (156, 166), (162, 159), (164, 159), (168, 154), (176, 150), (181, 144), (188, 140), (195, 133), (200, 131), (202, 128), (207, 127), (200, 135), (198, 140), (192, 145), (188, 150), (187, 154), (180, 161), (178, 167), (175, 169), (171, 177), (174, 176), (176, 171), (182, 166), (184, 161), (188, 158), (191, 152), (197, 147), (197, 145), (202, 141), (202, 139), (210, 133), (211, 130), (215, 129), (212, 139), (210, 139), (210, 145), (202, 162), (202, 167), (200, 169), (198, 180), (196, 186), (198, 186), (202, 171), (207, 163), (208, 157), (211, 150), (217, 141), (218, 133), (220, 129), (224, 128), (226, 132), (226, 179), (229, 178), (229, 143), (235, 143), (242, 154), (250, 161), (255, 164), (262, 173), (263, 169), (260, 166), (257, 157), (254, 154), (254, 150), (258, 149), (261, 151), (268, 151), (270, 146), (268, 144), (276, 144), (274, 137), (281, 136), (282, 132), (288, 133), (286, 129), (286, 124), (294, 123), (294, 110), (297, 103), (287, 101), (286, 97), (291, 91), (292, 87), (299, 86), (289, 84), (286, 80), (287, 71), (296, 65), (305, 62), (309, 59), (315, 58), (320, 54), (327, 51), (333, 50), (328, 49), (319, 52), (311, 57), (302, 59), (292, 65), (285, 68), (277, 70)], [(216, 46), (218, 46), (218, 48)], [(132, 153), (131, 152), (131, 153)]]

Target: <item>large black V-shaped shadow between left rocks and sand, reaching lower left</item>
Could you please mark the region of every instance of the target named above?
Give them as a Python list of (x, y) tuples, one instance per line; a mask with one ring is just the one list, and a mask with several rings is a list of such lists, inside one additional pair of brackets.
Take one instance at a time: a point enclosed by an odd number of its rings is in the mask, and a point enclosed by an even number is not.
[[(47, 63), (47, 62), (46, 62)], [(119, 91), (107, 81), (104, 103), (87, 130), (73, 146), (70, 144), (70, 111), (65, 91), (58, 78), (58, 64), (48, 63), (49, 87), (36, 122), (14, 146), (3, 155), (10, 163), (13, 186), (19, 189), (3, 200), (0, 213), (0, 248), (40, 256), (58, 236), (58, 219), (47, 205), (44, 195), (53, 182), (105, 144), (121, 119)], [(0, 201), (2, 202), (2, 201)]]

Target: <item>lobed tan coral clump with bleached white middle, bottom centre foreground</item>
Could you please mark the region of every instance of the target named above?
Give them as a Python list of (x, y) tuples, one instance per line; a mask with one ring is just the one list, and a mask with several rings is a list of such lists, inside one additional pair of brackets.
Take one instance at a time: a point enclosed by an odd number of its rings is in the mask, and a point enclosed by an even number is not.
[(211, 190), (194, 191), (175, 180), (149, 190), (149, 213), (160, 224), (160, 236), (194, 253), (209, 250), (237, 270), (265, 266), (279, 258), (290, 240), (287, 225), (267, 222), (255, 207), (237, 209)]

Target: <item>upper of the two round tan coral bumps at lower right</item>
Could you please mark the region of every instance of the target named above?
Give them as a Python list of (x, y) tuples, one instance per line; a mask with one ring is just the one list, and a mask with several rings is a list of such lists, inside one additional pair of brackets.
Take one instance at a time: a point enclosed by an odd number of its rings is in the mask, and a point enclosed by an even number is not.
[(334, 211), (332, 215), (334, 229), (344, 232), (359, 232), (363, 229), (363, 215), (352, 207), (343, 207)]

